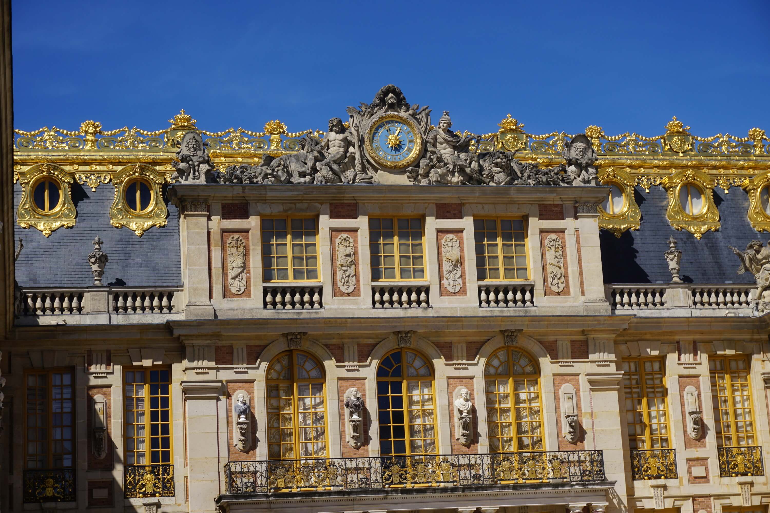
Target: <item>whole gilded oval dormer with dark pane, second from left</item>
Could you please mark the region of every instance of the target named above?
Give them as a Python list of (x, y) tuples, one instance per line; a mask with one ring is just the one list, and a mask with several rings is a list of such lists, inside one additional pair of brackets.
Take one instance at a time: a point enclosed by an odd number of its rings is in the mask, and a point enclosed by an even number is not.
[(116, 172), (112, 176), (115, 196), (109, 209), (110, 224), (125, 226), (139, 237), (152, 226), (166, 226), (169, 211), (161, 190), (162, 185), (173, 182), (172, 175), (144, 164), (127, 165)]

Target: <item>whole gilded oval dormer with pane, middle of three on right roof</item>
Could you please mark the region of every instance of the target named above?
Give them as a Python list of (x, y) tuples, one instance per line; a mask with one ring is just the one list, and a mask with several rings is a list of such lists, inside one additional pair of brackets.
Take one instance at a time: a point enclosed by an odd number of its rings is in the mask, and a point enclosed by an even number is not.
[(714, 203), (714, 178), (695, 169), (680, 169), (663, 178), (661, 185), (668, 194), (666, 217), (672, 228), (684, 228), (700, 239), (721, 226)]

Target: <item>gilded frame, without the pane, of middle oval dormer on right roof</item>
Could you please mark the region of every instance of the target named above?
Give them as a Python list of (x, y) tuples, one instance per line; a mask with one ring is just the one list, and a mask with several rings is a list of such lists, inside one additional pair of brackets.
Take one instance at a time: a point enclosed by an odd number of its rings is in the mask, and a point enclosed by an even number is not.
[[(679, 190), (682, 185), (688, 184), (697, 185), (703, 191), (705, 205), (698, 215), (689, 215), (679, 201)], [(716, 186), (714, 178), (695, 169), (680, 169), (663, 178), (661, 185), (668, 194), (666, 218), (668, 218), (672, 228), (679, 231), (684, 228), (700, 240), (705, 232), (709, 230), (716, 232), (721, 227), (719, 211), (714, 203), (714, 188)]]

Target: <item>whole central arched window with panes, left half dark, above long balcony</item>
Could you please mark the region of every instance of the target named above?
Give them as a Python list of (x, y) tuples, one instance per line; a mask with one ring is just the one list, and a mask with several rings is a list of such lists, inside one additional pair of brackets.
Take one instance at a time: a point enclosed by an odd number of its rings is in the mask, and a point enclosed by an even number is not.
[(410, 349), (385, 355), (377, 367), (380, 455), (436, 454), (434, 376)]

